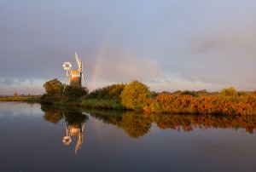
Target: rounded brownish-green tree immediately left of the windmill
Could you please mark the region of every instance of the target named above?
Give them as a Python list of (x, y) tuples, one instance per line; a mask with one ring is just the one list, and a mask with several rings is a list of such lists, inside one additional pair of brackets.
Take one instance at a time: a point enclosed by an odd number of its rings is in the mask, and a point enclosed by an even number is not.
[(62, 88), (62, 83), (57, 78), (54, 78), (44, 83), (44, 89), (47, 95), (50, 95), (50, 96), (59, 95), (61, 88)]

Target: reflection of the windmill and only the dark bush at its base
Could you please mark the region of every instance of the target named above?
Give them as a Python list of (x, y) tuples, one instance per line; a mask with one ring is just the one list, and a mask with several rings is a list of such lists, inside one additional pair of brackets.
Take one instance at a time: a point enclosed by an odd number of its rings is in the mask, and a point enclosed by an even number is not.
[(72, 142), (72, 137), (78, 137), (75, 146), (75, 154), (83, 145), (84, 125), (88, 120), (88, 116), (83, 112), (63, 112), (62, 115), (65, 121), (66, 135), (62, 142), (64, 145), (69, 145)]

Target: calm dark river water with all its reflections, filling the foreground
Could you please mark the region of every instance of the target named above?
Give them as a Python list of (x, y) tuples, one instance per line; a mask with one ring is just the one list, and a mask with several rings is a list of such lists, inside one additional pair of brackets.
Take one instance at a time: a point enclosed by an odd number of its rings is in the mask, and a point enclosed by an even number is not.
[(0, 171), (256, 171), (253, 117), (0, 102), (0, 131)]

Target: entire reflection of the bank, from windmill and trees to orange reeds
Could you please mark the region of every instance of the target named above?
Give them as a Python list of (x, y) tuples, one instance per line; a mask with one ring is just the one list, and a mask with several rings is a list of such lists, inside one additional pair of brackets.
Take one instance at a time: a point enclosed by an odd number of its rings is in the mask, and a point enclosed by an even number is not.
[(131, 138), (139, 138), (147, 135), (152, 123), (160, 129), (173, 129), (177, 131), (193, 131), (194, 129), (207, 130), (210, 128), (220, 129), (245, 129), (253, 134), (256, 129), (255, 116), (212, 116), (212, 115), (175, 115), (175, 114), (145, 114), (140, 112), (119, 112), (102, 111), (96, 109), (61, 109), (52, 106), (42, 106), (45, 112), (44, 119), (51, 123), (59, 123), (65, 119), (66, 135), (63, 143), (69, 145), (72, 136), (78, 137), (75, 152), (79, 150), (83, 143), (84, 123), (88, 116), (84, 112), (90, 113), (90, 117), (101, 120), (123, 129)]

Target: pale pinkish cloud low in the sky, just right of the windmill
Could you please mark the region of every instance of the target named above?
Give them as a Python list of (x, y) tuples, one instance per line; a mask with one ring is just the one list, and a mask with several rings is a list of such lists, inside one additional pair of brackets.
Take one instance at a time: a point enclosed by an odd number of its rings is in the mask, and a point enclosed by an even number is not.
[(157, 82), (165, 75), (156, 60), (115, 52), (102, 57), (97, 77), (115, 82), (129, 82), (131, 79)]

